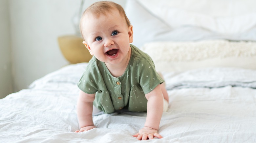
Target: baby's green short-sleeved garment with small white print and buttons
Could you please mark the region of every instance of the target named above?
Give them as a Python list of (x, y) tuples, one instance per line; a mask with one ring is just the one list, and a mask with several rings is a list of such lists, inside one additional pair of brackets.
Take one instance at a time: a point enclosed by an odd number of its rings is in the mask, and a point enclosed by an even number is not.
[(122, 76), (112, 76), (105, 63), (93, 56), (77, 84), (85, 93), (96, 93), (94, 106), (104, 113), (123, 108), (132, 112), (146, 112), (145, 94), (164, 82), (155, 70), (152, 59), (136, 46), (130, 46), (131, 58)]

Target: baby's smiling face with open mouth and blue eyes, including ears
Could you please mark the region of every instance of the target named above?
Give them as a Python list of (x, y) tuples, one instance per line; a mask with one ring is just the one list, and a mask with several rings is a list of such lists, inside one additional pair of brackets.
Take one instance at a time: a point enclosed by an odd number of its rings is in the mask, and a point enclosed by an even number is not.
[(118, 64), (127, 57), (133, 31), (118, 10), (98, 18), (86, 14), (81, 27), (85, 39), (83, 43), (98, 60)]

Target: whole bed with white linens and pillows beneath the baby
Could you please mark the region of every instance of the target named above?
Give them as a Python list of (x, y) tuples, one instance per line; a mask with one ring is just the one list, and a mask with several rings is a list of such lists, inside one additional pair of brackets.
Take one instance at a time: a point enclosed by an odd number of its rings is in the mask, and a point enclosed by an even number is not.
[(163, 138), (132, 137), (146, 118), (135, 112), (94, 116), (97, 128), (74, 133), (76, 84), (87, 66), (82, 62), (1, 99), (0, 142), (256, 142), (255, 5), (127, 1), (133, 44), (152, 57), (166, 82), (170, 101), (160, 122)]

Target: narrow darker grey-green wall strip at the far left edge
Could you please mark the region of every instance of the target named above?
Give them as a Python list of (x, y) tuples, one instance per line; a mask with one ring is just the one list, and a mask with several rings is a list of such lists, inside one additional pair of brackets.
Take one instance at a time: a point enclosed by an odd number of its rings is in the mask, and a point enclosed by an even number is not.
[(0, 0), (0, 99), (12, 92), (8, 0)]

